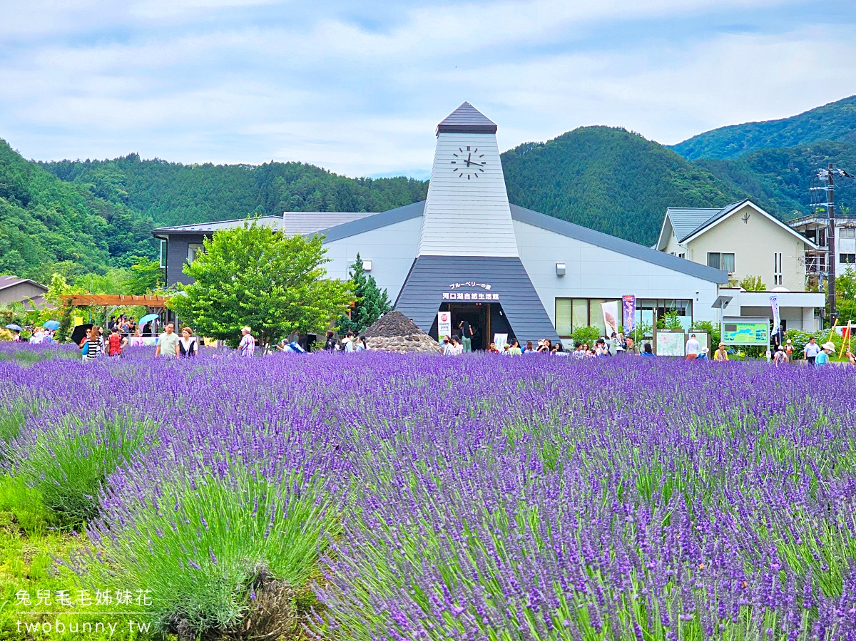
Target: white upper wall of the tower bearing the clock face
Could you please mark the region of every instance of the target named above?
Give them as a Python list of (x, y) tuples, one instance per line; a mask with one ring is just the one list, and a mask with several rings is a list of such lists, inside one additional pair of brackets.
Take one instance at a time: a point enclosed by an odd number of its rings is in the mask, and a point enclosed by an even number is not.
[(517, 256), (496, 134), (438, 134), (423, 220), (419, 256)]

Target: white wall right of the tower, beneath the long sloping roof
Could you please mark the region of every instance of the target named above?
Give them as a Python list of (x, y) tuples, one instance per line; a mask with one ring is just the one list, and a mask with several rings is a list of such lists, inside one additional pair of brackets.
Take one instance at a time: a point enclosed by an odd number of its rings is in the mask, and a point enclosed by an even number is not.
[[(716, 283), (669, 270), (603, 247), (589, 245), (528, 223), (514, 221), (520, 260), (550, 320), (556, 324), (556, 298), (693, 300), (693, 320), (718, 321)], [(556, 263), (566, 265), (556, 276)]]

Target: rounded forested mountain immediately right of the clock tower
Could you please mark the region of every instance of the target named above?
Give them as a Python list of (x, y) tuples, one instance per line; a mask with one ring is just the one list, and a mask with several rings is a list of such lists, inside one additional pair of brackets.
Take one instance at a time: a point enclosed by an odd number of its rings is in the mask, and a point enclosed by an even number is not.
[(625, 129), (584, 127), (502, 154), (508, 199), (651, 245), (666, 207), (724, 206), (747, 197), (729, 181)]

